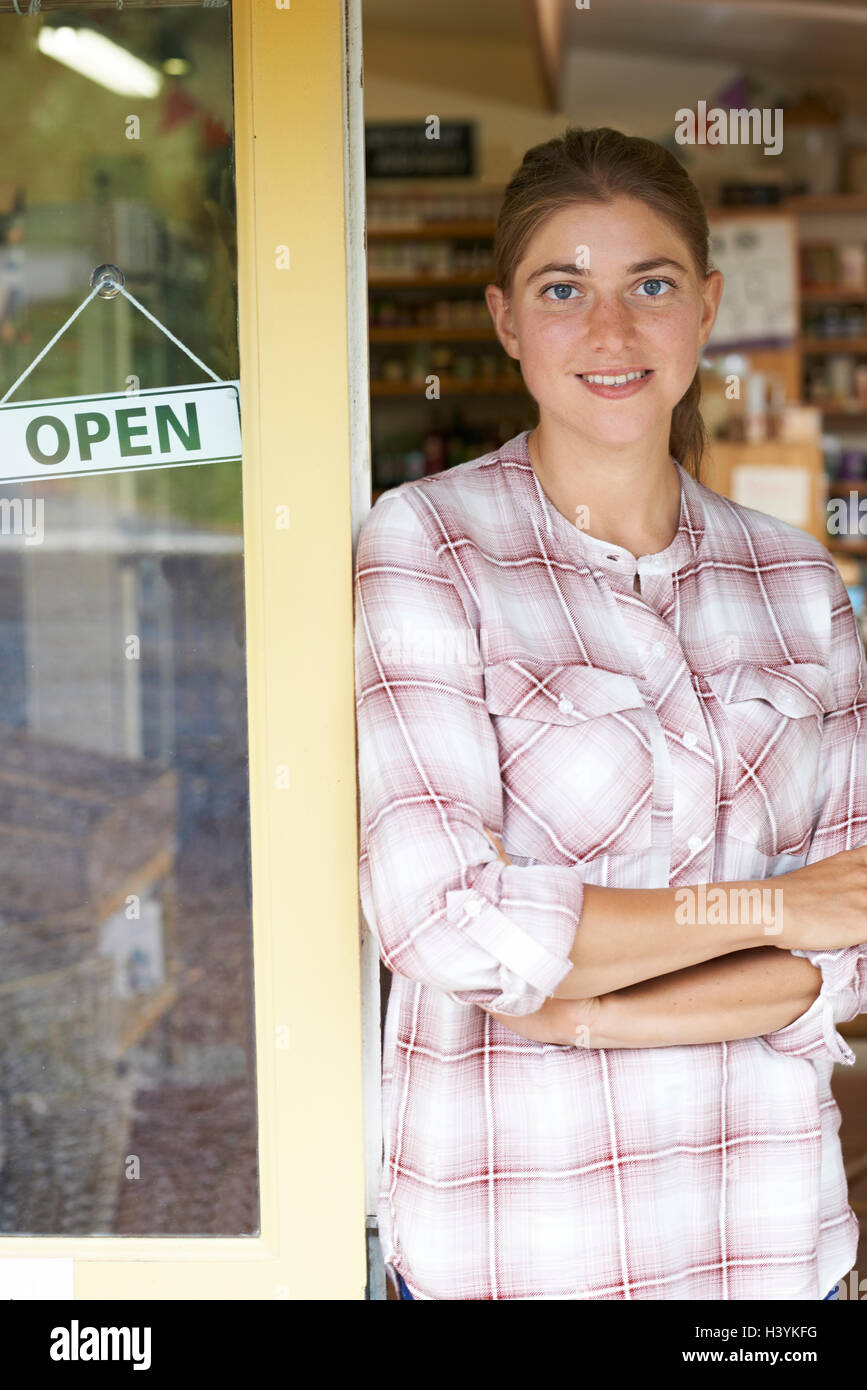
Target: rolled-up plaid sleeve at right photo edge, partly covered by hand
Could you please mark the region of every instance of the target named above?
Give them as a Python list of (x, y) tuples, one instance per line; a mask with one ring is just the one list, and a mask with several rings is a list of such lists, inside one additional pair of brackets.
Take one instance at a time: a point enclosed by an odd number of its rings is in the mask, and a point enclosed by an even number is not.
[[(836, 566), (831, 578), (831, 670), (834, 703), (823, 717), (817, 809), (806, 863), (867, 844), (867, 666)], [(766, 1041), (778, 1052), (852, 1065), (854, 1052), (836, 1024), (867, 1011), (867, 944), (792, 955), (806, 956), (821, 970), (821, 988), (800, 1017), (766, 1034)]]

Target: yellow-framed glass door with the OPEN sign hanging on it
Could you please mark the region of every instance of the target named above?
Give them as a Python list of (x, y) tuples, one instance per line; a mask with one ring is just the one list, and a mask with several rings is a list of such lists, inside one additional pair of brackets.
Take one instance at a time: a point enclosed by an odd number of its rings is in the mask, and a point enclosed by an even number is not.
[(365, 1294), (357, 10), (0, 0), (0, 1297)]

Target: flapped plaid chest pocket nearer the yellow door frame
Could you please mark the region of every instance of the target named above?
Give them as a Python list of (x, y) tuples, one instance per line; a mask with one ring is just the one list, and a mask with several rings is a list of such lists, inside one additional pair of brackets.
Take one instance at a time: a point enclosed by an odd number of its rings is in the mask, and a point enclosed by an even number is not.
[(486, 667), (485, 702), (507, 852), (574, 865), (650, 848), (656, 714), (631, 676), (513, 659)]

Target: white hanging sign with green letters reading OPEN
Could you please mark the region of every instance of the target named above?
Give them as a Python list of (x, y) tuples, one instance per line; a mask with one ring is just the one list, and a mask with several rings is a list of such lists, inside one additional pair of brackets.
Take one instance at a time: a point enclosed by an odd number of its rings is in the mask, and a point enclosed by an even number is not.
[(0, 481), (240, 461), (238, 381), (10, 400), (0, 406)]

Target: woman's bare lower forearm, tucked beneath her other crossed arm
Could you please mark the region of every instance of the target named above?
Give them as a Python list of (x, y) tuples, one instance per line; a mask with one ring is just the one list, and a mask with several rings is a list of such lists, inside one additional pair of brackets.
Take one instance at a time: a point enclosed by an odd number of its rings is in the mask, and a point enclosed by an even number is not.
[(774, 947), (739, 951), (602, 995), (589, 1047), (677, 1047), (760, 1037), (793, 1023), (817, 998), (821, 972)]

